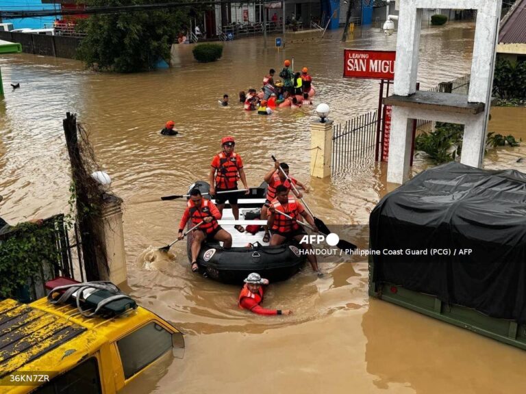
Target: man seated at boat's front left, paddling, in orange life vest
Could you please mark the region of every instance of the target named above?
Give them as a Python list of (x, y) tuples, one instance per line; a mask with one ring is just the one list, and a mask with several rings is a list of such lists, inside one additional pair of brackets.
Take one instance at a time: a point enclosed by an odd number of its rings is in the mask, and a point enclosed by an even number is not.
[(232, 236), (219, 226), (217, 222), (219, 219), (221, 219), (221, 212), (218, 211), (214, 203), (203, 198), (199, 189), (190, 190), (190, 199), (186, 204), (186, 209), (179, 223), (179, 236), (177, 239), (183, 239), (184, 227), (188, 220), (192, 220), (193, 226), (199, 224), (202, 220), (204, 221), (192, 234), (193, 240), (190, 247), (192, 252), (192, 272), (199, 271), (197, 257), (203, 241), (221, 241), (225, 249), (232, 246)]

